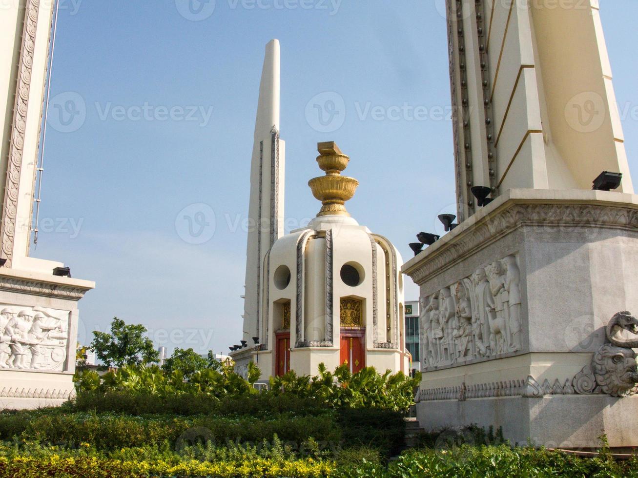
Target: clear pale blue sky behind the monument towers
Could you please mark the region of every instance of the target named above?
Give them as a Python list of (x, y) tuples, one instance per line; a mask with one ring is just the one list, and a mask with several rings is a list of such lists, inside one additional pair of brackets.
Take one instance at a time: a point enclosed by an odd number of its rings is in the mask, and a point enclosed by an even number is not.
[[(271, 38), (281, 41), (290, 228), (318, 211), (307, 182), (320, 173), (316, 143), (334, 140), (361, 183), (348, 203), (360, 224), (404, 259), (417, 232), (440, 231), (436, 215), (454, 212), (442, 3), (61, 0), (32, 255), (97, 282), (80, 301), (80, 342), (115, 316), (169, 350), (225, 352), (239, 340), (242, 221)], [(600, 3), (635, 174), (638, 62), (627, 52), (638, 45), (638, 2)], [(344, 115), (318, 122), (317, 96)], [(69, 105), (80, 113), (71, 122)]]

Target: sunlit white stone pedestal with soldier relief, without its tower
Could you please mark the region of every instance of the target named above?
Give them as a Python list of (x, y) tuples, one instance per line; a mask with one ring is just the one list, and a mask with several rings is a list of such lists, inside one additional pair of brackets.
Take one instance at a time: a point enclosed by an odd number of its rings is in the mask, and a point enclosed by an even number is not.
[(73, 395), (77, 302), (94, 282), (0, 269), (0, 409)]

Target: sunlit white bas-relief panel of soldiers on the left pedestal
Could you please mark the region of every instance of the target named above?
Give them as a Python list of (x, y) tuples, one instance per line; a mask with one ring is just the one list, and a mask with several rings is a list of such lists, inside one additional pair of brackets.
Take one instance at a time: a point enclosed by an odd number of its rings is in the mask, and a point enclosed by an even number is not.
[(0, 368), (62, 370), (69, 312), (0, 304)]

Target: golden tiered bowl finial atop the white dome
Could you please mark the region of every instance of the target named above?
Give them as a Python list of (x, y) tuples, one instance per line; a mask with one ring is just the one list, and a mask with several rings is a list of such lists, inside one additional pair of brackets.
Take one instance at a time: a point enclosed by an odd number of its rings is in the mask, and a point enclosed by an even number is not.
[(308, 182), (313, 196), (322, 201), (323, 204), (317, 217), (325, 215), (350, 216), (346, 211), (345, 202), (352, 199), (359, 186), (359, 181), (355, 178), (341, 176), (341, 171), (348, 166), (350, 157), (343, 154), (334, 141), (318, 143), (317, 150), (320, 153), (317, 156), (317, 163), (325, 171), (325, 176), (313, 178)]

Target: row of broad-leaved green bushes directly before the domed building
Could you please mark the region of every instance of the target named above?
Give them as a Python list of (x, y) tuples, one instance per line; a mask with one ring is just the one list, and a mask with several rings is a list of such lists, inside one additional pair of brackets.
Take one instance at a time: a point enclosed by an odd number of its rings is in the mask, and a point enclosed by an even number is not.
[[(216, 408), (215, 403), (218, 400), (258, 395), (253, 384), (260, 375), (261, 371), (252, 362), (248, 366), (248, 380), (237, 375), (230, 365), (222, 366), (221, 370), (198, 370), (191, 373), (188, 379), (184, 378), (184, 373), (180, 370), (169, 373), (156, 365), (123, 366), (103, 377), (97, 372), (83, 370), (75, 379), (77, 403), (82, 409), (89, 409), (89, 403), (96, 403), (96, 409), (110, 407), (113, 411), (131, 407), (126, 409), (130, 413), (140, 413), (142, 410), (163, 412), (167, 410), (166, 407), (186, 409), (187, 414), (209, 412)], [(293, 371), (283, 377), (271, 377), (270, 389), (262, 394), (314, 400), (322, 407), (336, 409), (405, 411), (414, 403), (414, 393), (419, 382), (418, 374), (415, 378), (410, 378), (403, 372), (392, 374), (390, 370), (380, 374), (373, 367), (363, 368), (353, 374), (347, 365), (339, 366), (333, 373), (320, 364), (319, 374), (314, 377), (297, 376)], [(122, 400), (119, 400), (119, 396), (122, 396)], [(149, 396), (156, 396), (161, 400), (153, 400)], [(186, 401), (182, 400), (184, 396), (197, 398)], [(193, 406), (185, 405), (184, 402), (193, 402)]]

